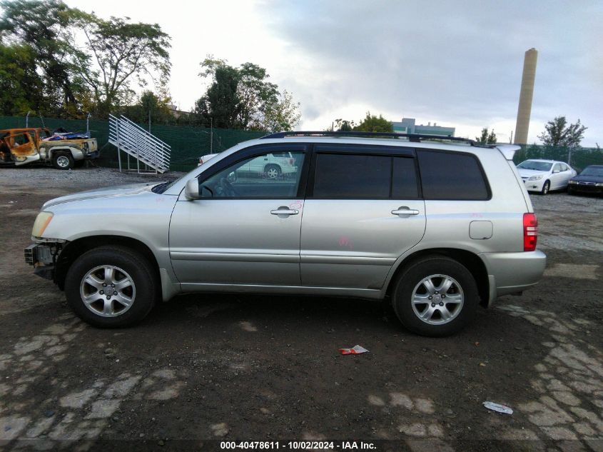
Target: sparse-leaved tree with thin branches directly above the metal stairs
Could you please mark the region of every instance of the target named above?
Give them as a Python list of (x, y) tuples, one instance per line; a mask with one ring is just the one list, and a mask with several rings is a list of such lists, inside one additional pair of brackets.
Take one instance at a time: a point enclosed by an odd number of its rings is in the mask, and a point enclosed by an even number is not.
[[(106, 116), (113, 106), (130, 103), (132, 81), (146, 86), (151, 79), (165, 86), (170, 75), (170, 36), (158, 24), (127, 20), (111, 17), (106, 21), (81, 13), (77, 21), (86, 36), (80, 74), (93, 92), (97, 116)], [(86, 70), (86, 63), (95, 69)]]

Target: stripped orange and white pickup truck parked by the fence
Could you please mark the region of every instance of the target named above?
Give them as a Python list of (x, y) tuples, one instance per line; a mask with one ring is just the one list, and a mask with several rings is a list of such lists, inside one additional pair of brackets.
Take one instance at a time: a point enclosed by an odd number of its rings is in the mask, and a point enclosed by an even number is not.
[(42, 128), (0, 130), (0, 164), (20, 166), (42, 161), (56, 169), (71, 169), (85, 159), (96, 159), (98, 154), (94, 138), (66, 139)]

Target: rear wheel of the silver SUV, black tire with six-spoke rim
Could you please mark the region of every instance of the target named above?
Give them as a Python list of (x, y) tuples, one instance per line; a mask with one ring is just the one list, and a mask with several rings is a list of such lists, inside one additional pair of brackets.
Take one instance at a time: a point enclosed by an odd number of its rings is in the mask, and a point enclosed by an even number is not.
[[(439, 286), (441, 286), (445, 279), (440, 276), (447, 276), (454, 282), (442, 293), (437, 291), (432, 294), (432, 297), (435, 297), (435, 303), (433, 303), (433, 299), (428, 301), (427, 298), (425, 298), (425, 303), (412, 302), (415, 291), (417, 291), (417, 298), (429, 296), (427, 290), (425, 293), (421, 293), (422, 289), (427, 287), (422, 285), (423, 280), (432, 278), (430, 281), (440, 281)], [(439, 286), (434, 284), (434, 288)], [(440, 298), (440, 296), (444, 297)], [(452, 303), (453, 299), (454, 303)], [(462, 303), (458, 303), (459, 299)], [(446, 302), (448, 300), (450, 303)], [(445, 256), (431, 256), (411, 263), (400, 274), (392, 293), (392, 306), (402, 325), (413, 333), (431, 337), (450, 336), (465, 328), (474, 318), (479, 301), (477, 284), (471, 272), (458, 261)], [(415, 308), (413, 308), (413, 304)], [(424, 313), (432, 311), (433, 314), (424, 321), (419, 317), (422, 313), (420, 311)], [(445, 317), (442, 316), (444, 312), (451, 313), (450, 320), (445, 320)]]

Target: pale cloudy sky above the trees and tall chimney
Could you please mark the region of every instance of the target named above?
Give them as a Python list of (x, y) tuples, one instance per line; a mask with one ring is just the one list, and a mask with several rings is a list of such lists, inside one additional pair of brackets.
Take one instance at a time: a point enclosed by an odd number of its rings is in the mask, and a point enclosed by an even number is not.
[(298, 129), (366, 111), (454, 126), (474, 138), (515, 129), (525, 51), (538, 50), (529, 142), (554, 116), (603, 145), (603, 1), (66, 0), (101, 17), (152, 22), (172, 36), (171, 95), (190, 110), (208, 54), (250, 61), (301, 104)]

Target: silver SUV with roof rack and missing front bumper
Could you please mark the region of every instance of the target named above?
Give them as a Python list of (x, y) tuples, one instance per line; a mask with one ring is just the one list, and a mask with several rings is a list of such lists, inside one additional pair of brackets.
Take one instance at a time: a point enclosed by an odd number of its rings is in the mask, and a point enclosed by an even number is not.
[[(272, 134), (171, 183), (46, 202), (26, 261), (94, 326), (141, 321), (178, 293), (223, 291), (389, 297), (409, 330), (445, 336), (544, 272), (517, 149)], [(275, 155), (287, 171), (250, 171)]]

